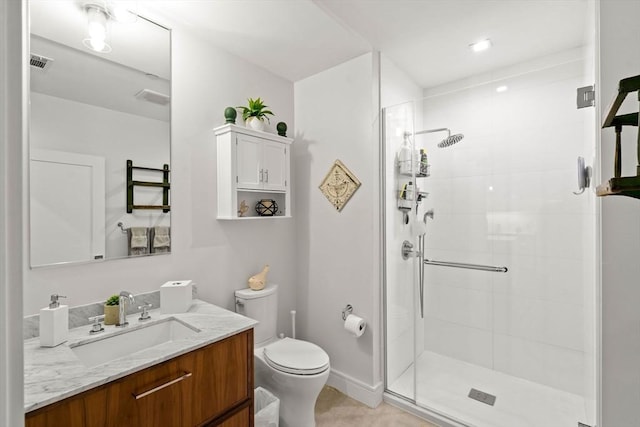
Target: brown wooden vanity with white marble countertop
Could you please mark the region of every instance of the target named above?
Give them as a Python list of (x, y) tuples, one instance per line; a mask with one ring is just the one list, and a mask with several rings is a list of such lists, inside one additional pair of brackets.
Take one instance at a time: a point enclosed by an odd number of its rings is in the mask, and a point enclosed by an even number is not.
[(191, 311), (183, 318), (201, 332), (171, 344), (174, 356), (153, 351), (82, 368), (67, 344), (43, 349), (37, 339), (29, 342), (25, 425), (252, 426), (255, 321), (201, 302)]

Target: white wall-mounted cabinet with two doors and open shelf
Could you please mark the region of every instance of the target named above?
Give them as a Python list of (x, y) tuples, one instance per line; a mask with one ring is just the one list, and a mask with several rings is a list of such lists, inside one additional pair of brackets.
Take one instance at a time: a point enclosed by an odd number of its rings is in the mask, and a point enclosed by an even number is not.
[[(218, 219), (291, 217), (291, 138), (227, 124), (214, 129), (218, 152)], [(275, 200), (275, 216), (258, 201)], [(240, 216), (244, 201), (248, 210)]]

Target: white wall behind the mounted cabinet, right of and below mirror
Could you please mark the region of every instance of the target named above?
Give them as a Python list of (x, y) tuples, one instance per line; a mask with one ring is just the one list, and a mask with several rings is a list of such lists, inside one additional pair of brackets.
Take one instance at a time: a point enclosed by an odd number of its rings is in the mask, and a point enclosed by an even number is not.
[(225, 107), (259, 96), (275, 112), (272, 122), (288, 123), (293, 133), (293, 84), (179, 28), (172, 38), (172, 253), (26, 269), (25, 315), (36, 313), (51, 293), (68, 295), (66, 302), (75, 306), (123, 289), (155, 290), (175, 279), (193, 279), (200, 298), (233, 309), (233, 290), (246, 287), (247, 278), (268, 263), (269, 280), (281, 285), (279, 330), (289, 334), (288, 311), (294, 308), (296, 293), (293, 221), (216, 220), (212, 129), (224, 123)]

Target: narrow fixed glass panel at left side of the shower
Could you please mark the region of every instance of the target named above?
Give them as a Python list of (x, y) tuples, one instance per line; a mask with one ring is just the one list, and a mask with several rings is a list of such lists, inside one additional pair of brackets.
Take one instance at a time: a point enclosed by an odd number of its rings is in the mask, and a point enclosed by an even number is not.
[[(414, 230), (416, 195), (413, 134), (416, 104), (383, 110), (385, 227), (385, 376), (387, 391), (415, 402), (415, 351), (421, 345), (422, 323), (416, 290), (417, 259), (403, 259), (406, 241), (417, 248)], [(408, 161), (408, 163), (407, 163)], [(402, 162), (402, 163), (400, 163)], [(420, 332), (418, 332), (420, 331)]]

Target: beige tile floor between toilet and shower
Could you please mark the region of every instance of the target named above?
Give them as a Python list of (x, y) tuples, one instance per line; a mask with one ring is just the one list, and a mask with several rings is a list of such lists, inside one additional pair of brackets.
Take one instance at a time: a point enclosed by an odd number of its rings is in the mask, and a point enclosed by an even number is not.
[(325, 386), (316, 401), (316, 427), (437, 427), (387, 403), (377, 408)]

